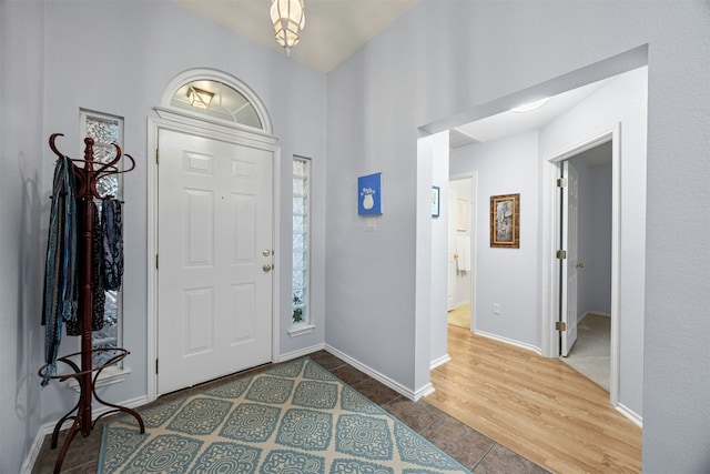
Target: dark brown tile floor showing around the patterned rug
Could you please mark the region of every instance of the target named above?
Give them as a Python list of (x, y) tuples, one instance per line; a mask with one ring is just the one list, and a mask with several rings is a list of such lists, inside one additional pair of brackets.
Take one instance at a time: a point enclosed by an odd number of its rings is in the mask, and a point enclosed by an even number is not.
[[(546, 470), (532, 462), (519, 456), (513, 451), (501, 446), (495, 441), (484, 436), (476, 430), (468, 427), (462, 422), (453, 418), (446, 413), (435, 409), (424, 401), (413, 402), (399, 395), (394, 390), (383, 385), (369, 375), (358, 371), (352, 365), (326, 351), (318, 351), (311, 354), (311, 359), (333, 375), (347, 383), (353, 389), (382, 406), (387, 412), (399, 418), (412, 430), (419, 433), (442, 451), (448, 453), (460, 464), (476, 474), (480, 473), (515, 473), (515, 474), (538, 474), (547, 473)], [(255, 371), (268, 369), (266, 365)], [(254, 371), (248, 371), (250, 374)], [(226, 380), (233, 380), (242, 374), (232, 375)], [(224, 383), (225, 379), (210, 384)], [(178, 396), (184, 396), (191, 391), (201, 391), (206, 386), (201, 385), (175, 394), (161, 396), (153, 404), (165, 403)], [(140, 410), (139, 410), (140, 411)], [(105, 421), (110, 421), (110, 417)], [(69, 446), (67, 457), (62, 464), (62, 473), (88, 474), (95, 473), (99, 448), (101, 445), (101, 432), (103, 420), (99, 421), (97, 427), (88, 437), (78, 435)], [(50, 436), (48, 435), (42, 444), (32, 473), (52, 473), (59, 450), (62, 446), (63, 436), (60, 435), (59, 447), (50, 448)]]

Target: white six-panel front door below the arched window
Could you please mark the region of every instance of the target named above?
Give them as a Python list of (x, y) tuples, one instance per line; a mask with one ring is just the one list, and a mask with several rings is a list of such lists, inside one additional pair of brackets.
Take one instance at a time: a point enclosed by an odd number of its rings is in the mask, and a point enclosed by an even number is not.
[(274, 154), (159, 132), (158, 393), (272, 360)]

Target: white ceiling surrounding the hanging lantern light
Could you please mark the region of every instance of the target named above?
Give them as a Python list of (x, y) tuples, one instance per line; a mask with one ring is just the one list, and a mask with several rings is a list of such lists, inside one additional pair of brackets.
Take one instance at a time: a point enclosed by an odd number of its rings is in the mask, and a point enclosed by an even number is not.
[[(274, 50), (270, 0), (174, 0), (210, 20)], [(291, 58), (331, 72), (416, 0), (304, 0), (306, 22)]]

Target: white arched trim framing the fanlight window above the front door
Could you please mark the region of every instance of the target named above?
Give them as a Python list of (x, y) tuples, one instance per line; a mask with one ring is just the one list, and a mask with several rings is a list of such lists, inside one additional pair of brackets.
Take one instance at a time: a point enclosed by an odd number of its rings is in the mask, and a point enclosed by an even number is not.
[[(197, 81), (197, 80), (212, 80), (212, 81), (222, 82), (224, 84), (230, 85), (232, 89), (236, 90), (237, 92), (240, 92), (254, 107), (254, 110), (256, 111), (256, 114), (258, 115), (258, 120), (264, 125), (263, 131), (265, 131), (266, 133), (272, 133), (273, 132), (274, 129), (273, 129), (272, 123), (271, 123), (271, 117), (268, 117), (268, 111), (264, 107), (264, 103), (258, 98), (258, 95), (256, 95), (256, 92), (254, 92), (248, 85), (246, 85), (244, 82), (240, 81), (239, 79), (236, 79), (236, 78), (234, 78), (234, 77), (232, 77), (230, 74), (226, 74), (226, 73), (224, 73), (222, 71), (217, 71), (216, 69), (195, 68), (195, 69), (189, 69), (189, 70), (183, 71), (180, 74), (175, 75), (168, 83), (168, 85), (165, 85), (165, 89), (163, 90), (163, 97), (162, 97), (161, 102), (160, 102), (160, 104), (162, 105), (161, 109), (170, 108), (170, 102), (172, 101), (173, 95), (175, 95), (175, 92), (178, 91), (178, 89), (180, 89), (181, 87), (183, 87), (187, 82)], [(175, 109), (172, 109), (172, 110), (175, 110)], [(193, 115), (193, 114), (190, 114), (190, 113), (184, 113), (184, 114), (189, 115), (189, 117), (192, 117), (194, 119), (197, 119), (197, 120), (200, 120), (200, 119), (204, 120), (205, 119), (203, 115)], [(210, 119), (209, 121), (216, 121), (219, 123), (236, 124), (234, 122), (226, 122), (224, 120), (219, 120), (219, 119)], [(244, 127), (244, 125), (241, 125), (241, 127)], [(250, 127), (250, 129), (251, 129), (251, 127)], [(258, 129), (253, 129), (253, 130), (257, 131)]]

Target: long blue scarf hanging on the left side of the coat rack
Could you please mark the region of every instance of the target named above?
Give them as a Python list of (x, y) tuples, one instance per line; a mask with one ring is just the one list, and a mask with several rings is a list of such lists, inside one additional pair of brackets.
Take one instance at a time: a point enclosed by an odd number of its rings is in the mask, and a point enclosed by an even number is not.
[(57, 160), (44, 268), (44, 362), (42, 385), (57, 373), (62, 322), (77, 321), (77, 201), (73, 164)]

